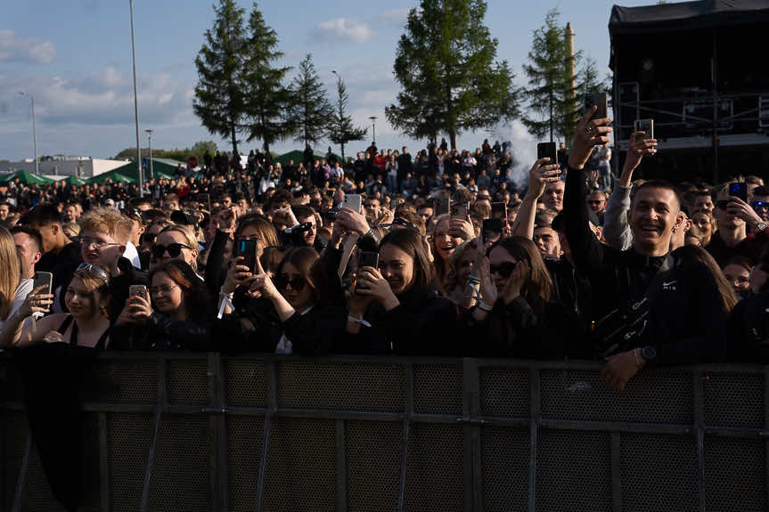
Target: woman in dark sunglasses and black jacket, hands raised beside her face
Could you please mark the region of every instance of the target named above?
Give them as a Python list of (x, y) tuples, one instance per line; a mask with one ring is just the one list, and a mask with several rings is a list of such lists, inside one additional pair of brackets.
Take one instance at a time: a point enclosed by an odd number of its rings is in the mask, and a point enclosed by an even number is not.
[[(532, 240), (498, 240), (473, 269), (479, 278), (477, 305), (462, 317), (479, 344), (476, 354), (526, 359), (558, 359), (565, 340), (578, 332), (577, 321), (553, 299), (553, 284)], [(569, 347), (578, 354), (582, 347)]]

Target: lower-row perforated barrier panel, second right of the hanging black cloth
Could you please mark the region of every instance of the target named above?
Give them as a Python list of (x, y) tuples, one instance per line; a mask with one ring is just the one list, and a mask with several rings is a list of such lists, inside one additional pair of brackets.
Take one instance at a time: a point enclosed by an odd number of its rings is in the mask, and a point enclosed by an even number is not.
[(163, 416), (150, 484), (150, 509), (209, 510), (209, 419)]

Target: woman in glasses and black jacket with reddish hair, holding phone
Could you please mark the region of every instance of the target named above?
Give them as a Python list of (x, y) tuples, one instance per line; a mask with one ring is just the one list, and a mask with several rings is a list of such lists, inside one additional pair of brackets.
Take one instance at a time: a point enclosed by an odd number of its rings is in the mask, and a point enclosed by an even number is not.
[(115, 323), (114, 348), (205, 350), (213, 305), (205, 285), (183, 261), (170, 260), (150, 274), (150, 289), (126, 301)]

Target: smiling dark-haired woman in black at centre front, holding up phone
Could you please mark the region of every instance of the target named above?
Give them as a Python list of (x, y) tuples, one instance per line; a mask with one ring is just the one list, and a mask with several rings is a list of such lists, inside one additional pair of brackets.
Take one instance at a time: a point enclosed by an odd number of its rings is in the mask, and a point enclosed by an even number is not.
[(357, 269), (348, 293), (347, 336), (338, 352), (454, 355), (456, 310), (431, 288), (421, 235), (394, 230), (380, 242), (379, 268)]

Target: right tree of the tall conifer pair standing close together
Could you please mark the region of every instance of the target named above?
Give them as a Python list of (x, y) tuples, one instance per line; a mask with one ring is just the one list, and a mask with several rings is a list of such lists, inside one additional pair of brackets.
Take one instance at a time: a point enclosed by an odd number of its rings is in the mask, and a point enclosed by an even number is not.
[(246, 130), (248, 140), (260, 139), (265, 152), (270, 144), (290, 135), (290, 123), (286, 118), (291, 94), (283, 85), (290, 67), (274, 67), (283, 53), (275, 48), (278, 37), (273, 28), (267, 27), (257, 4), (249, 18), (247, 53), (243, 62), (245, 86)]

